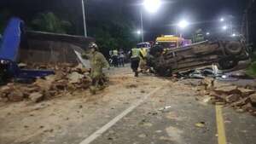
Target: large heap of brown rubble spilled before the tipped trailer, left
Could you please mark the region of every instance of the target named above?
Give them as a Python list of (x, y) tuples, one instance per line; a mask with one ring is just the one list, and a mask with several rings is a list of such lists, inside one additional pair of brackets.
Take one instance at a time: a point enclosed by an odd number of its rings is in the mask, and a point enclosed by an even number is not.
[(51, 69), (55, 75), (38, 78), (32, 84), (9, 83), (0, 86), (0, 101), (44, 101), (56, 95), (73, 93), (75, 90), (88, 89), (90, 87), (89, 71), (82, 66), (71, 64), (40, 65), (22, 64), (26, 68)]

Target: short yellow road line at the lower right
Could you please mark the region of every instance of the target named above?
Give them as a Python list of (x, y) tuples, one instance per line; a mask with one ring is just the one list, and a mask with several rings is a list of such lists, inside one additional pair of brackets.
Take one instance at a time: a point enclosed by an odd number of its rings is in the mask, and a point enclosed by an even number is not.
[(218, 129), (218, 144), (227, 144), (222, 106), (216, 105), (216, 123)]

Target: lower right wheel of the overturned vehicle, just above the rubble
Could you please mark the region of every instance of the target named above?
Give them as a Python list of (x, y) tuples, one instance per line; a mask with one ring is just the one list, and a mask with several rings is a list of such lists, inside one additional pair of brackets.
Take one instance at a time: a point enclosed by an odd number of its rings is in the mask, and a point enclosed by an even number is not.
[(234, 68), (237, 65), (238, 65), (238, 60), (235, 60), (232, 58), (227, 58), (227, 59), (220, 60), (218, 62), (218, 69), (229, 70), (229, 69)]

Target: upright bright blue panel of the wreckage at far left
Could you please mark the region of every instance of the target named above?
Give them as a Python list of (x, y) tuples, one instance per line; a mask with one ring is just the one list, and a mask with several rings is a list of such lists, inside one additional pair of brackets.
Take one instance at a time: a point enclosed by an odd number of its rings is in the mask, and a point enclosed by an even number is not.
[(3, 32), (2, 45), (0, 46), (0, 59), (15, 61), (19, 53), (21, 27), (23, 21), (12, 18)]

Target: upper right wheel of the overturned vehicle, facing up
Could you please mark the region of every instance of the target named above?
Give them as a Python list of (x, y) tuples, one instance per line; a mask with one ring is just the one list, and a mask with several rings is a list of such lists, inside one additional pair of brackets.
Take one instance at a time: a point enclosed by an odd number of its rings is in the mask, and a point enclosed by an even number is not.
[(239, 55), (241, 53), (242, 46), (239, 42), (231, 42), (226, 43), (224, 49), (228, 55)]

